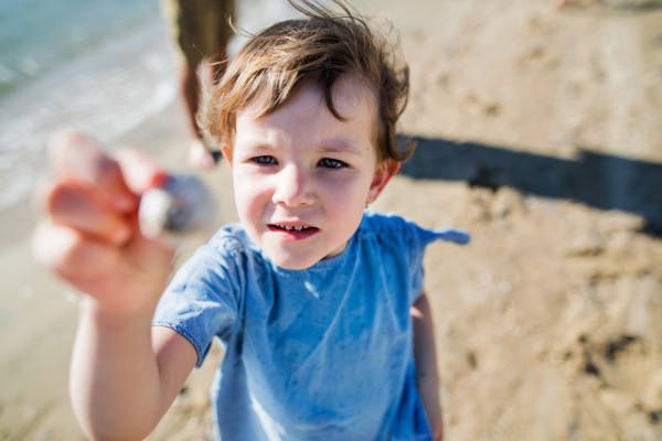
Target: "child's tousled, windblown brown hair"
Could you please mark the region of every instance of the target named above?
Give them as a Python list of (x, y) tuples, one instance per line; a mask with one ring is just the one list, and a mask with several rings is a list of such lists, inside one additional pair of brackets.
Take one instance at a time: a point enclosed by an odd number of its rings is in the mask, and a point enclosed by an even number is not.
[(333, 106), (333, 87), (341, 79), (355, 79), (375, 96), (377, 120), (373, 142), (377, 161), (406, 160), (414, 146), (396, 146), (396, 122), (409, 96), (409, 68), (399, 44), (392, 41), (373, 19), (350, 11), (333, 0), (335, 13), (309, 0), (288, 0), (306, 15), (273, 24), (239, 51), (221, 83), (210, 90), (199, 116), (200, 127), (216, 144), (225, 141), (229, 151), (236, 115), (259, 98), (256, 117), (276, 111), (297, 92), (317, 85), (327, 107), (344, 121)]

